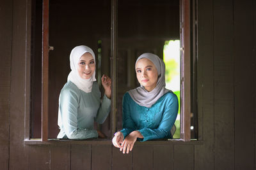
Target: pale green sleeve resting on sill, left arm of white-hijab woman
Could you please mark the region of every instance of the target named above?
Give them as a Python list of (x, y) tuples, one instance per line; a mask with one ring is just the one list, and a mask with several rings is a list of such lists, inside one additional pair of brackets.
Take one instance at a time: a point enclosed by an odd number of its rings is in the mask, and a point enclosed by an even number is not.
[(69, 139), (97, 138), (98, 133), (96, 130), (77, 126), (78, 107), (79, 97), (76, 91), (64, 90), (61, 92), (59, 117), (65, 134)]

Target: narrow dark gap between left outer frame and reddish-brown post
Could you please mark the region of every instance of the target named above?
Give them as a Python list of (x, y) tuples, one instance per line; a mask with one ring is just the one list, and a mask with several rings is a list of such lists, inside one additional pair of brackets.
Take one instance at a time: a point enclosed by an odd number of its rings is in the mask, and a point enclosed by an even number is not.
[[(42, 0), (32, 1), (31, 15), (31, 129), (29, 138), (41, 136)], [(39, 112), (39, 113), (38, 113)]]

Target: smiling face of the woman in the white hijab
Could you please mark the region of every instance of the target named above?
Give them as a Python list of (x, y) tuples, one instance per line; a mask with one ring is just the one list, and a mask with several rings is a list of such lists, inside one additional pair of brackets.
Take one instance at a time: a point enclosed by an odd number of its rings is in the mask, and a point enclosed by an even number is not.
[(77, 72), (81, 78), (89, 79), (91, 78), (92, 74), (95, 71), (95, 60), (91, 53), (84, 53), (79, 62), (77, 67)]

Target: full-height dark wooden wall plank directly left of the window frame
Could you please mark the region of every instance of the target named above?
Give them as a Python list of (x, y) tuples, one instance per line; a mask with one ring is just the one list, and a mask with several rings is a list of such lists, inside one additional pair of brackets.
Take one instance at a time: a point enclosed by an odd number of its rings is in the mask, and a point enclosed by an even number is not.
[[(12, 1), (12, 67), (10, 89), (10, 160), (9, 169), (28, 169), (29, 147), (24, 146), (25, 68), (27, 15), (29, 1)], [(19, 162), (19, 164), (17, 163)]]

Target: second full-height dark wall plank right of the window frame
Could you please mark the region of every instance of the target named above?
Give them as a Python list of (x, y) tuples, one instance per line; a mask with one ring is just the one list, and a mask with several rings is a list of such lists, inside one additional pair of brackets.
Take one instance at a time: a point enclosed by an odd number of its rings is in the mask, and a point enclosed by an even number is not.
[(234, 169), (233, 1), (214, 1), (214, 169)]

